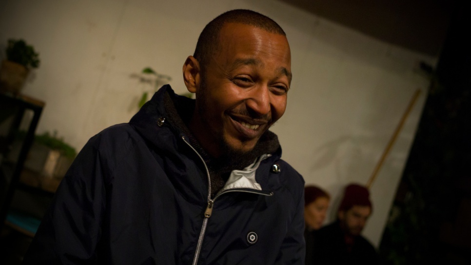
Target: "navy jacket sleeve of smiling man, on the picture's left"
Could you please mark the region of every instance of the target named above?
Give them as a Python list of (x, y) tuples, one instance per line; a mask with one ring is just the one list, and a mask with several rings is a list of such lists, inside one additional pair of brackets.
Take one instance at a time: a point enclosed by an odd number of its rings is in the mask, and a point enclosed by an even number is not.
[(104, 171), (90, 140), (60, 183), (23, 265), (96, 264), (106, 196)]

